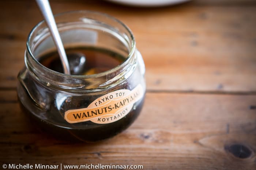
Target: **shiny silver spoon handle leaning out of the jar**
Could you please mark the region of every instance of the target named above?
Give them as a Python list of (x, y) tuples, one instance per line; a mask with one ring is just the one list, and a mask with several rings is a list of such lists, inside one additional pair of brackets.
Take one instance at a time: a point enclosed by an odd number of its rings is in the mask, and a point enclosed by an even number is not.
[(70, 68), (69, 68), (69, 64), (68, 64), (67, 55), (65, 53), (63, 43), (60, 38), (60, 34), (57, 29), (57, 25), (55, 23), (49, 1), (48, 0), (36, 0), (36, 1), (37, 1), (37, 5), (38, 5), (42, 15), (44, 16), (47, 26), (50, 29), (52, 39), (53, 39), (54, 44), (55, 44), (55, 46), (58, 50), (58, 53), (60, 55), (61, 64), (62, 64), (64, 73), (70, 74)]

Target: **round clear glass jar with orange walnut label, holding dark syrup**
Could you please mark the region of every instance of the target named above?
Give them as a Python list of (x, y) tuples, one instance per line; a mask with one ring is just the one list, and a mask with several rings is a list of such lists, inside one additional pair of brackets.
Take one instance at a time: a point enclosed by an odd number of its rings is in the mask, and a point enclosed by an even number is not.
[(131, 30), (98, 12), (74, 11), (54, 17), (65, 49), (103, 48), (125, 56), (125, 60), (93, 75), (50, 70), (39, 62), (55, 50), (41, 21), (28, 36), (26, 67), (18, 75), (22, 108), (42, 130), (67, 140), (93, 142), (120, 133), (139, 115), (146, 91), (145, 66)]

